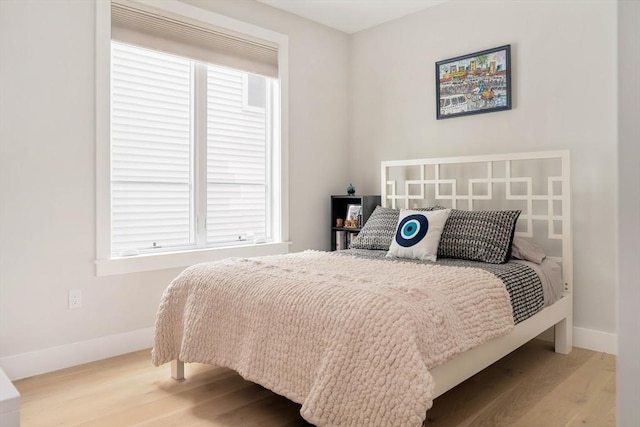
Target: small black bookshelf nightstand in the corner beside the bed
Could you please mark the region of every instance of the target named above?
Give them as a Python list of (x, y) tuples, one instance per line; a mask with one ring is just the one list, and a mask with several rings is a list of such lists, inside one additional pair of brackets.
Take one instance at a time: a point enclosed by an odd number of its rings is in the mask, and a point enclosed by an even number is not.
[[(350, 185), (350, 187), (353, 187)], [(349, 249), (373, 210), (380, 204), (380, 196), (331, 196), (330, 250)], [(339, 222), (338, 220), (342, 220)]]

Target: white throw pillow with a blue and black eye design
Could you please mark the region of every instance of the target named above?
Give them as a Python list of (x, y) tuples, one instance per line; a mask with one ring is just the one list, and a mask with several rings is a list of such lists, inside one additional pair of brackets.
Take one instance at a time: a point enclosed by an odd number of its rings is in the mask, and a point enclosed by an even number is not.
[(435, 261), (450, 212), (451, 209), (428, 212), (401, 209), (387, 257)]

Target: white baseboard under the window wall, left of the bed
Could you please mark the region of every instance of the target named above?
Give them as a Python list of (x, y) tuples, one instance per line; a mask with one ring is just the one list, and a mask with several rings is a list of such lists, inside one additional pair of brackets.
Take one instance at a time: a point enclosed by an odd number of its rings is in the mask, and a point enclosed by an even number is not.
[(87, 341), (0, 358), (0, 368), (12, 381), (58, 369), (95, 362), (153, 346), (154, 328), (137, 329)]

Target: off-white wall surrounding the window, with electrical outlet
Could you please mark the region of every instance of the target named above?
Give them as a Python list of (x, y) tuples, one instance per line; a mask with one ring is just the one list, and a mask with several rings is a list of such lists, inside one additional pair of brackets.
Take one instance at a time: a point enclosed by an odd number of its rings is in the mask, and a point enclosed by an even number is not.
[[(253, 0), (201, 4), (289, 36), (291, 249), (328, 248), (329, 195), (347, 183), (347, 36)], [(148, 336), (179, 271), (94, 275), (94, 20), (94, 0), (0, 1), (0, 362), (14, 377), (53, 347), (64, 359), (67, 344)]]

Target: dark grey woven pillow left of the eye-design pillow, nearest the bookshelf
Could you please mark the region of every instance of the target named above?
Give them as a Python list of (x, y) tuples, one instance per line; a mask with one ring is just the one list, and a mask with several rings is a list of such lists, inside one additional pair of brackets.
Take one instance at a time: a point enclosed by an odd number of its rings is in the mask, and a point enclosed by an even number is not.
[[(439, 206), (414, 210), (432, 211), (443, 209)], [(352, 249), (369, 249), (388, 251), (400, 217), (399, 209), (376, 206), (356, 239), (351, 243)]]

